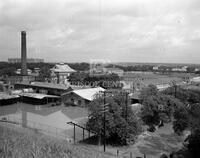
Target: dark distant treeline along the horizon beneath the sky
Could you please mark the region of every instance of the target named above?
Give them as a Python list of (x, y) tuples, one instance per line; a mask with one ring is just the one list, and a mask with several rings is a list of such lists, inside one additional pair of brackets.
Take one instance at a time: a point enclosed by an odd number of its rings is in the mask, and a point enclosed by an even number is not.
[[(86, 62), (82, 63), (66, 63), (68, 64), (72, 69), (76, 71), (88, 71), (90, 69), (90, 64)], [(27, 63), (27, 67), (30, 70), (34, 70), (34, 68), (40, 68), (41, 70), (50, 70), (55, 63)], [(122, 66), (117, 64), (110, 64), (106, 67), (116, 67), (119, 69), (127, 71), (158, 71), (158, 72), (172, 72), (172, 67), (161, 65), (159, 66), (158, 70), (153, 70), (154, 65), (152, 64), (144, 64), (144, 65), (128, 65), (128, 66)], [(8, 63), (8, 62), (0, 62), (0, 76), (12, 76), (15, 75), (15, 71), (17, 69), (21, 68), (21, 63)], [(188, 66), (187, 73), (198, 73), (200, 74), (200, 71), (195, 71), (195, 66)], [(46, 75), (49, 76), (49, 75)]]

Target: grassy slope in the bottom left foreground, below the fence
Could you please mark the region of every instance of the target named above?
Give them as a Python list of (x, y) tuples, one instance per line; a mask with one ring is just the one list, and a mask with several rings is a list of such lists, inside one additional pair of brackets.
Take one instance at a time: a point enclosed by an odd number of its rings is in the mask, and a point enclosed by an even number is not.
[(112, 158), (29, 129), (0, 124), (1, 158)]

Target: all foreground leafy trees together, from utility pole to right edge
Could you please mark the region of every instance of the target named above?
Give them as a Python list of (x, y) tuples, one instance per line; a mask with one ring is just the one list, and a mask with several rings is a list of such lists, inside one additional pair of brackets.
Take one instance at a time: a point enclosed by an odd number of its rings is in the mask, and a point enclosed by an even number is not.
[[(129, 144), (134, 142), (142, 131), (141, 124), (155, 127), (161, 121), (173, 120), (175, 133), (181, 135), (184, 130), (191, 131), (187, 145), (178, 151), (178, 154), (182, 153), (182, 156), (189, 154), (191, 158), (200, 154), (198, 151), (200, 146), (200, 134), (198, 133), (200, 132), (200, 104), (196, 103), (197, 98), (200, 98), (198, 92), (180, 89), (174, 95), (173, 87), (159, 92), (155, 86), (149, 85), (141, 91), (140, 98), (143, 106), (137, 117), (130, 107), (126, 106), (126, 99), (123, 95), (112, 93), (112, 97), (106, 97), (106, 102), (109, 103), (106, 111), (106, 139), (109, 142), (120, 145)], [(102, 97), (91, 102), (87, 123), (87, 127), (98, 131), (100, 136), (103, 135), (103, 103)]]

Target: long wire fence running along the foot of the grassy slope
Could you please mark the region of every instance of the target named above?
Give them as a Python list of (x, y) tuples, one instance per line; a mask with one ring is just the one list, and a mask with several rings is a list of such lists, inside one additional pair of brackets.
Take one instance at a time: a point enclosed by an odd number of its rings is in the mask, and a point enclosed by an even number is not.
[[(9, 115), (5, 116), (5, 117), (1, 117), (0, 121), (21, 125), (23, 127), (33, 129), (36, 132), (41, 132), (41, 133), (44, 133), (44, 134), (47, 134), (47, 135), (50, 135), (50, 136), (54, 136), (54, 137), (57, 137), (57, 138), (64, 139), (64, 140), (66, 140), (67, 142), (70, 142), (70, 143), (74, 142), (73, 138), (72, 138), (73, 136), (70, 137), (69, 133), (66, 129), (61, 129), (61, 128), (53, 127), (53, 126), (50, 126), (50, 125), (34, 122), (32, 120), (26, 120), (26, 124), (24, 124), (23, 119), (21, 119), (17, 116), (9, 116)], [(109, 153), (109, 152), (104, 153), (103, 151), (99, 151), (95, 148), (89, 149), (88, 147), (84, 147), (80, 144), (76, 144), (76, 146), (74, 146), (74, 148), (76, 150), (80, 151), (80, 152), (83, 152), (86, 155), (91, 155), (92, 157), (96, 157), (96, 158), (100, 158), (100, 157), (104, 157), (104, 158), (114, 158), (114, 157), (118, 157), (118, 158), (147, 158), (147, 156), (145, 154), (143, 156), (140, 156), (140, 157), (135, 157), (132, 152), (124, 155), (119, 150), (116, 150), (116, 153), (113, 153), (113, 152), (112, 153)]]

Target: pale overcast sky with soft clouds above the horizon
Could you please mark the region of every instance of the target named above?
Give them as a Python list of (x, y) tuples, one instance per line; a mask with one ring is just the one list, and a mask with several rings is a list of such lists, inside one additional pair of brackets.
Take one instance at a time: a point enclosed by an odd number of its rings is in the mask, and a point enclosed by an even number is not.
[(0, 60), (200, 63), (200, 0), (0, 0)]

